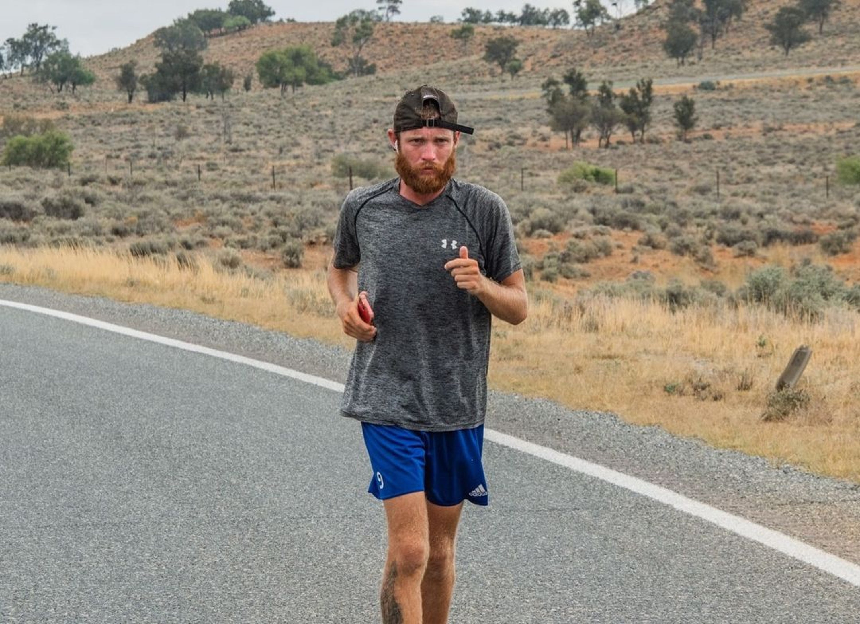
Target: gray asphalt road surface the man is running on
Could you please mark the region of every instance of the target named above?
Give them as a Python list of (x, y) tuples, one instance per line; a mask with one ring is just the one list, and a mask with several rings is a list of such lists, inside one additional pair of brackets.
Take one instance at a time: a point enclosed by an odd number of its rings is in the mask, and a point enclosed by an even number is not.
[[(0, 306), (0, 622), (377, 621), (384, 521), (339, 400)], [(710, 522), (493, 442), (486, 465), (452, 623), (860, 621), (856, 585)]]

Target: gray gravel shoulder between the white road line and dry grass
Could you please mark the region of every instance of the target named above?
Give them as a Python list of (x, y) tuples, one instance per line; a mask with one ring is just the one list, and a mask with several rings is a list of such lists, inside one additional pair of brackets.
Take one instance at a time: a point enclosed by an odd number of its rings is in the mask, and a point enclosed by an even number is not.
[[(194, 312), (0, 284), (0, 299), (269, 361), (342, 382), (349, 352)], [(860, 485), (710, 448), (615, 414), (491, 392), (488, 428), (645, 479), (860, 564)]]

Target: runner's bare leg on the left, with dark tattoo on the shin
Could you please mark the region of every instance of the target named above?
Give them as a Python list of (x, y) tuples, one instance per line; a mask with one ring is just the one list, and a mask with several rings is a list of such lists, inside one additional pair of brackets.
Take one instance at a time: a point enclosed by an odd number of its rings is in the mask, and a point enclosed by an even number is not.
[(421, 578), (430, 546), (427, 499), (423, 491), (384, 501), (388, 520), (388, 556), (382, 591), (383, 624), (421, 624)]

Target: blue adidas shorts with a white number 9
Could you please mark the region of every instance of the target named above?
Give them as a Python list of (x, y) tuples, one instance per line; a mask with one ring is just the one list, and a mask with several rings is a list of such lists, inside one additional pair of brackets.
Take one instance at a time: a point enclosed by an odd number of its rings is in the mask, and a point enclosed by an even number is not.
[(436, 432), (361, 423), (361, 432), (373, 469), (367, 491), (379, 500), (423, 491), (437, 505), (488, 503), (483, 425)]

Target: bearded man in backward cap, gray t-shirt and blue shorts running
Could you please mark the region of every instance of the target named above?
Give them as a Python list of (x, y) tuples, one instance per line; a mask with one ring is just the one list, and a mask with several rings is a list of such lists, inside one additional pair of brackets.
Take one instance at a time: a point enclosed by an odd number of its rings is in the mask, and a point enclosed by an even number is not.
[(528, 308), (507, 207), (451, 177), (460, 133), (473, 129), (443, 91), (408, 91), (388, 131), (399, 177), (347, 195), (329, 264), (359, 341), (341, 411), (362, 423), (388, 525), (384, 624), (447, 621), (463, 502), (488, 501), (490, 318), (519, 324)]

